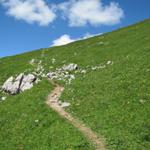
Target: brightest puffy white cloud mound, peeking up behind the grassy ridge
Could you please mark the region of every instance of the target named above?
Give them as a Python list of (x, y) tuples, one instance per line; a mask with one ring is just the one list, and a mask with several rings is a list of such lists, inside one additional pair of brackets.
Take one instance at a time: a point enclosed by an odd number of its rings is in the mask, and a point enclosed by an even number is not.
[(69, 44), (74, 41), (75, 41), (75, 39), (71, 39), (69, 35), (64, 34), (61, 37), (59, 37), (58, 39), (54, 40), (52, 46), (66, 45), (66, 44)]

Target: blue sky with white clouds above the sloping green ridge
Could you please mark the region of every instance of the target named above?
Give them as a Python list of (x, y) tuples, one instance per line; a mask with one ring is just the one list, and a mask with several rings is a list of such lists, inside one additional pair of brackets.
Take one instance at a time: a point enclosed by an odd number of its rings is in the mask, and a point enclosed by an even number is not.
[(150, 0), (0, 0), (0, 57), (150, 18)]

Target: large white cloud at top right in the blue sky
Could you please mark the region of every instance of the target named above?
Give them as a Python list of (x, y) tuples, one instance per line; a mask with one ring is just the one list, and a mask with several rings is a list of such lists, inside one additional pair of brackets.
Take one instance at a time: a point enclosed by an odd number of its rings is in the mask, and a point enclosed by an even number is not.
[(118, 3), (104, 6), (102, 0), (70, 0), (59, 4), (63, 17), (69, 19), (70, 26), (114, 25), (124, 16)]

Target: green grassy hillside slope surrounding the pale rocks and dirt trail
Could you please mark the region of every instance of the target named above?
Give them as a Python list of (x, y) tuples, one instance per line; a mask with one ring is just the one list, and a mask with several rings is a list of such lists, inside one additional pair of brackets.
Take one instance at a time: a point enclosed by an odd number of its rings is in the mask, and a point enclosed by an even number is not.
[[(2, 58), (0, 85), (11, 75), (32, 72), (33, 58), (41, 60), (47, 72), (68, 63), (90, 68), (112, 61), (104, 69), (77, 74), (70, 85), (61, 83), (62, 100), (71, 103), (67, 111), (106, 138), (108, 149), (149, 150), (150, 20), (66, 46)], [(47, 108), (44, 101), (51, 89), (43, 80), (0, 103), (0, 147), (93, 149), (81, 133)]]

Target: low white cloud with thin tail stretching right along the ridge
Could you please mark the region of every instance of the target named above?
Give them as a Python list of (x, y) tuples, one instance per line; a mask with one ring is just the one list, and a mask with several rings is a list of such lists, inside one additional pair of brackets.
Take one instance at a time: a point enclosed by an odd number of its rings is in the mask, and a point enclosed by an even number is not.
[(58, 39), (54, 40), (52, 43), (52, 46), (61, 46), (61, 45), (66, 45), (75, 41), (79, 41), (79, 40), (83, 40), (83, 39), (87, 39), (90, 37), (94, 37), (97, 35), (101, 35), (102, 33), (99, 34), (90, 34), (90, 33), (86, 33), (82, 38), (71, 38), (70, 35), (68, 34), (64, 34), (61, 37), (59, 37)]

